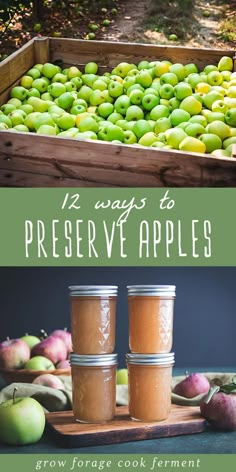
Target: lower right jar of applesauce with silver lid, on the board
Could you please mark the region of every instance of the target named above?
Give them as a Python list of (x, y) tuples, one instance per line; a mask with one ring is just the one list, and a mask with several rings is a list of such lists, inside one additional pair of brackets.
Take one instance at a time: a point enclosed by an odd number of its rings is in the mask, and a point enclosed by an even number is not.
[(174, 353), (127, 354), (129, 413), (137, 421), (163, 421), (171, 409)]

